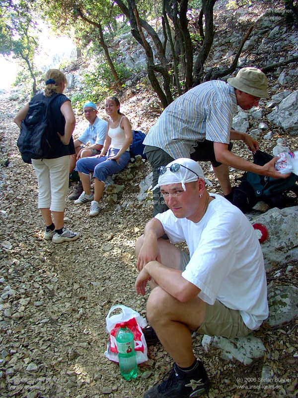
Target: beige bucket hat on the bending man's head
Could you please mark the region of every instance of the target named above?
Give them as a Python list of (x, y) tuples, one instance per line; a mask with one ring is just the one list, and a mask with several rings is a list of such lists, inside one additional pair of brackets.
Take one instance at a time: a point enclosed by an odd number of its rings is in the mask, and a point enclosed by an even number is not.
[(258, 68), (242, 68), (227, 82), (240, 91), (259, 98), (269, 98), (266, 75)]

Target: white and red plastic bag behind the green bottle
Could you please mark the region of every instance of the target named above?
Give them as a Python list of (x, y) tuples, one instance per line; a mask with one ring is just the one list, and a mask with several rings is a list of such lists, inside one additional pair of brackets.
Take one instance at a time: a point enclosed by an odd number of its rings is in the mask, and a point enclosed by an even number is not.
[[(121, 309), (121, 312), (111, 315), (115, 309)], [(147, 344), (142, 331), (147, 322), (139, 312), (122, 304), (113, 305), (106, 316), (106, 327), (110, 338), (104, 355), (111, 361), (119, 362), (115, 336), (121, 322), (125, 322), (134, 335), (137, 363), (141, 364), (148, 361)]]

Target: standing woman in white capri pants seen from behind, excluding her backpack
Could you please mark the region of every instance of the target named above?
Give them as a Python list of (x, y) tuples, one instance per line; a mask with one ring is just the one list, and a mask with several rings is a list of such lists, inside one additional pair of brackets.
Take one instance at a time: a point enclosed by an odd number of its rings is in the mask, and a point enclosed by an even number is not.
[(79, 237), (78, 232), (64, 227), (70, 155), (75, 153), (72, 137), (75, 117), (71, 101), (62, 94), (67, 86), (64, 73), (58, 69), (50, 69), (46, 73), (45, 81), (44, 93), (37, 94), (20, 109), (14, 122), (21, 128), (29, 106), (41, 101), (47, 105), (51, 101), (47, 117), (51, 150), (49, 155), (43, 159), (32, 159), (32, 165), (38, 181), (38, 208), (46, 224), (44, 239), (52, 240), (54, 243), (70, 242)]

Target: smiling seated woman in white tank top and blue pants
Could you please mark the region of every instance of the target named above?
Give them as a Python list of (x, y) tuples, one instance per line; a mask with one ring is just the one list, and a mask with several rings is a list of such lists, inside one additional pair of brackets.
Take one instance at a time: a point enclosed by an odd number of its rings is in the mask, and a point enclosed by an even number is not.
[[(105, 101), (106, 113), (110, 116), (108, 132), (99, 155), (82, 158), (76, 162), (84, 192), (74, 200), (75, 204), (91, 202), (89, 216), (100, 212), (99, 200), (104, 191), (107, 176), (119, 173), (130, 160), (129, 147), (133, 141), (130, 121), (120, 112), (120, 102), (116, 97), (108, 97)], [(94, 198), (90, 192), (89, 172), (94, 176)]]

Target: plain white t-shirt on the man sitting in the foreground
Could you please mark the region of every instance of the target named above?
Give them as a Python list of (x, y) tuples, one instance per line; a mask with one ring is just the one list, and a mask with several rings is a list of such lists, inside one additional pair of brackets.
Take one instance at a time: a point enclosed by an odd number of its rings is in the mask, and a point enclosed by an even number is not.
[(171, 210), (155, 216), (172, 243), (186, 241), (190, 261), (182, 277), (197, 286), (199, 297), (213, 305), (218, 299), (237, 309), (250, 329), (268, 317), (263, 254), (246, 216), (220, 195), (194, 223)]

